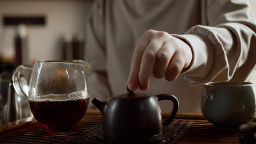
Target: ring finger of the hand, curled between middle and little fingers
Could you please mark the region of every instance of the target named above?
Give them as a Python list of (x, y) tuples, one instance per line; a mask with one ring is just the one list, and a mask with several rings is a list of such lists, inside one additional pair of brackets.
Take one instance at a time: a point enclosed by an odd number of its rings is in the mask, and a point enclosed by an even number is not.
[(153, 70), (154, 77), (161, 79), (165, 76), (165, 71), (171, 61), (172, 55), (174, 53), (174, 47), (170, 43), (165, 43), (162, 45), (161, 49), (158, 51), (156, 56), (155, 66)]

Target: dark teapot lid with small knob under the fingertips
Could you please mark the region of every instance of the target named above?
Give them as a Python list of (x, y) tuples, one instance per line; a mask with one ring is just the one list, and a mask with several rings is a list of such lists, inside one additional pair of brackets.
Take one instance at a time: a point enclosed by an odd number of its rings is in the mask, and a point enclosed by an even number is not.
[(111, 95), (112, 98), (121, 98), (121, 99), (133, 99), (133, 98), (144, 98), (149, 97), (153, 94), (144, 94), (144, 93), (135, 93), (131, 91), (128, 87), (126, 87), (127, 93), (118, 94), (118, 95)]

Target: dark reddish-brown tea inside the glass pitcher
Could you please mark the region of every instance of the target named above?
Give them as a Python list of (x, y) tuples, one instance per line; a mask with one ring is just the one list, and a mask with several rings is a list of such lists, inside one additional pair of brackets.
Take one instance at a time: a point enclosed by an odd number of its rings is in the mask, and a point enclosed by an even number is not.
[[(45, 99), (30, 101), (34, 118), (45, 129), (65, 130), (75, 126), (83, 118), (89, 104), (89, 98), (72, 94), (49, 94)], [(54, 97), (55, 99), (51, 99)], [(59, 98), (59, 99), (56, 99)]]

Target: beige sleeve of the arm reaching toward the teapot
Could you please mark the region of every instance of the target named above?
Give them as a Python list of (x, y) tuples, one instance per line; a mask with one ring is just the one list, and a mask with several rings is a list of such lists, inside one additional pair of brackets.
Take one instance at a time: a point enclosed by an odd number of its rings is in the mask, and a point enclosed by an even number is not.
[(193, 60), (182, 76), (191, 85), (247, 81), (256, 69), (256, 19), (249, 0), (202, 1), (202, 22), (183, 35)]

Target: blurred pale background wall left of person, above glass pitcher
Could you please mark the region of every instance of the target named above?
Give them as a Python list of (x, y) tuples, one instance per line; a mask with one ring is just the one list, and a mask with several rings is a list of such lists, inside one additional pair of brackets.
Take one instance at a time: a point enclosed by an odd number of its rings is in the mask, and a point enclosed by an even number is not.
[[(93, 2), (92, 0), (0, 0), (1, 61), (15, 61), (15, 49), (19, 47), (18, 36), (26, 38), (20, 41), (22, 42), (20, 46), (25, 49), (22, 53), (22, 57), (25, 57), (22, 63), (64, 59), (65, 41), (85, 40), (85, 22)], [(27, 26), (17, 26), (15, 21), (26, 22)]]

